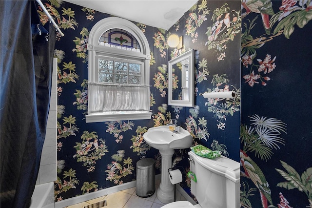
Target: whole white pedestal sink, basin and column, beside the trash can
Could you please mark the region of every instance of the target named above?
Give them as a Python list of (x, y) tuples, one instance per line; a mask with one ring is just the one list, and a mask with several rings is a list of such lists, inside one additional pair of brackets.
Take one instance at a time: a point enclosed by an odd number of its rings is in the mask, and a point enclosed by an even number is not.
[(189, 148), (193, 144), (193, 137), (187, 130), (180, 126), (177, 130), (178, 132), (172, 132), (168, 125), (161, 125), (149, 128), (143, 134), (145, 142), (158, 149), (161, 155), (161, 182), (157, 189), (157, 198), (165, 204), (174, 201), (174, 186), (169, 180), (168, 169), (172, 167), (175, 149)]

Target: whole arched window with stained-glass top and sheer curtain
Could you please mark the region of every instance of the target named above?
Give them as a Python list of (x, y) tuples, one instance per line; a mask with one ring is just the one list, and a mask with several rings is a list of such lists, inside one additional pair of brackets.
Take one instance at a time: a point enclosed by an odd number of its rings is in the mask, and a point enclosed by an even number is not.
[(109, 17), (90, 31), (86, 122), (150, 119), (150, 48), (131, 21)]

